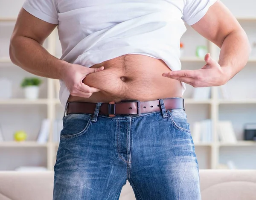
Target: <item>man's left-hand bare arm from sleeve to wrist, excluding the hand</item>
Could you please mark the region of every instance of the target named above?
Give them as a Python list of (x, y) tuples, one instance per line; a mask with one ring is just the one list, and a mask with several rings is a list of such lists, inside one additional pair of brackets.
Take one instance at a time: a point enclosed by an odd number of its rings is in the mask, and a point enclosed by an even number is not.
[(62, 66), (68, 64), (50, 55), (42, 46), (56, 26), (21, 9), (10, 42), (12, 62), (32, 74), (60, 79)]

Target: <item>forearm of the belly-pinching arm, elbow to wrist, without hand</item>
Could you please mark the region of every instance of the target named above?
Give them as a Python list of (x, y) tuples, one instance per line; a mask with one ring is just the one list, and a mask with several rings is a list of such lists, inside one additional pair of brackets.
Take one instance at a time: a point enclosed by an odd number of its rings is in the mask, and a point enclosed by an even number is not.
[(69, 65), (49, 54), (37, 41), (23, 36), (12, 38), (10, 58), (27, 72), (54, 79), (61, 79), (61, 71)]

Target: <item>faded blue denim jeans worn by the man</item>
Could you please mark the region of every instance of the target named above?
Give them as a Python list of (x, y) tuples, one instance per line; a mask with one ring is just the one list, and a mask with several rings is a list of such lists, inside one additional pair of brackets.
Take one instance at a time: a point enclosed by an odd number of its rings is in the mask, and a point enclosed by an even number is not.
[(140, 116), (68, 114), (54, 166), (53, 200), (201, 200), (198, 161), (182, 109)]

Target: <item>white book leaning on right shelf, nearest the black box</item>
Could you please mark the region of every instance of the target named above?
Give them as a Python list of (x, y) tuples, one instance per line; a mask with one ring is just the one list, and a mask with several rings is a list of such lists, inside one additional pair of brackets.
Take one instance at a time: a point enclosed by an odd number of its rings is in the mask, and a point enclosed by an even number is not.
[(237, 138), (231, 121), (218, 122), (218, 136), (221, 142), (236, 143)]

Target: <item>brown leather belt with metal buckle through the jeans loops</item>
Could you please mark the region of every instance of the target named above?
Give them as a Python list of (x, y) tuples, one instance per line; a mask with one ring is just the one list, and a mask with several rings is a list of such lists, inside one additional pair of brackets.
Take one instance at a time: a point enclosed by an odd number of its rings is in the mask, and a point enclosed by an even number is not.
[[(163, 99), (166, 110), (183, 109), (183, 98), (167, 98)], [(91, 102), (67, 102), (64, 116), (70, 113), (90, 113), (93, 114), (97, 103)], [(111, 101), (102, 103), (99, 109), (99, 115), (108, 115), (114, 117), (116, 115), (133, 115), (140, 116), (141, 113), (150, 113), (161, 111), (159, 99), (154, 101), (138, 101), (138, 100), (122, 100), (120, 102)]]

